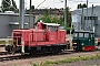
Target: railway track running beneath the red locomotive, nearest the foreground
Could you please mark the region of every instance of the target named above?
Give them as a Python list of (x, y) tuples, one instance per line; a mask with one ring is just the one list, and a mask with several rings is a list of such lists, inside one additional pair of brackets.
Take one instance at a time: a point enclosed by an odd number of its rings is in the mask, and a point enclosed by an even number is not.
[(70, 54), (74, 54), (74, 53), (89, 53), (89, 52), (71, 52), (71, 51), (66, 51), (63, 53), (60, 54), (38, 54), (38, 55), (21, 55), (21, 54), (7, 54), (7, 55), (2, 55), (0, 56), (0, 62), (8, 62), (8, 61), (14, 61), (14, 59), (27, 59), (27, 58), (39, 58), (39, 57), (46, 57), (46, 56), (57, 56), (57, 55), (70, 55)]

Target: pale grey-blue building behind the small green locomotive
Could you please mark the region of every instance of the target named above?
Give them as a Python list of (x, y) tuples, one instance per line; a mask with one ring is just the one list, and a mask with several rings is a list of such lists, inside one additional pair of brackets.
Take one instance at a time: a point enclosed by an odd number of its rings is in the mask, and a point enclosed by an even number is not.
[(100, 6), (74, 10), (71, 14), (72, 25), (76, 31), (94, 31), (100, 36)]

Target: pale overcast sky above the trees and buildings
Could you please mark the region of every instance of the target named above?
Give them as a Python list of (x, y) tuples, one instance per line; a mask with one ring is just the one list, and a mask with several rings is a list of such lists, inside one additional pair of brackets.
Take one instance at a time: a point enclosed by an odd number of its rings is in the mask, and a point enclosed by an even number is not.
[[(0, 0), (1, 2), (2, 0)], [(17, 2), (17, 6), (19, 8), (19, 0), (14, 0)], [(26, 8), (29, 8), (29, 2), (30, 0), (24, 0), (24, 6)], [(37, 8), (42, 1), (44, 0), (32, 0), (32, 6), (34, 6), (34, 8)], [(63, 2), (62, 2), (63, 1)], [(67, 6), (70, 7), (70, 10), (76, 10), (77, 6), (79, 3), (87, 3), (87, 0), (67, 0), (68, 3)], [(89, 1), (89, 7), (91, 7), (92, 4), (94, 6), (100, 6), (100, 0), (88, 0)], [(64, 8), (64, 0), (46, 0), (41, 6), (39, 6), (38, 8)]]

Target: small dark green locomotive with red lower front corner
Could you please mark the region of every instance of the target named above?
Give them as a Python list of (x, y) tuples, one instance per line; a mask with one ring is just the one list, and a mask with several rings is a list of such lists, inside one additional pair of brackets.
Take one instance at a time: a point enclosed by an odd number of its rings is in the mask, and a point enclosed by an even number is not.
[(72, 46), (76, 51), (94, 51), (94, 33), (90, 31), (74, 31)]

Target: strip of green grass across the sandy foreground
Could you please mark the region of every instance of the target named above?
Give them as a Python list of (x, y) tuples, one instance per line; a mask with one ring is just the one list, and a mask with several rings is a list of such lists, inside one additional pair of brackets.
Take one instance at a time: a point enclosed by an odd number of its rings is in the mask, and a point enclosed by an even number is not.
[[(96, 56), (78, 56), (74, 58), (64, 58), (62, 61), (56, 61), (56, 62), (51, 62), (51, 61), (46, 61), (46, 62), (41, 62), (40, 64), (34, 63), (33, 66), (50, 66), (50, 65), (59, 65), (59, 64), (67, 64), (67, 63), (73, 63), (73, 62), (80, 62), (80, 61), (89, 61), (89, 59), (99, 59), (100, 55), (97, 54)], [(32, 64), (32, 63), (31, 63)]]

